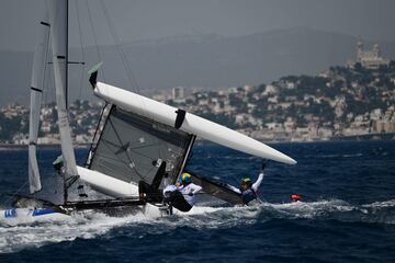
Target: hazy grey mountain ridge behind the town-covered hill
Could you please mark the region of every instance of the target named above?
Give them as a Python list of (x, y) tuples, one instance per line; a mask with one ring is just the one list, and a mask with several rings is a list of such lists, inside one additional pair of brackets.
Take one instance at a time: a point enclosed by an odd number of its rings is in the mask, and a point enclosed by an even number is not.
[[(286, 75), (312, 75), (329, 66), (345, 65), (348, 58), (356, 56), (357, 41), (354, 36), (306, 27), (239, 37), (168, 37), (128, 43), (123, 45), (122, 52), (115, 47), (100, 47), (100, 55), (95, 47), (88, 47), (84, 72), (103, 60), (105, 81), (127, 89), (129, 80), (119, 56), (125, 54), (127, 67), (132, 68), (143, 93), (176, 85), (215, 89), (259, 84)], [(379, 43), (384, 56), (395, 58), (395, 43)], [(366, 42), (365, 46), (370, 48), (371, 44)], [(70, 60), (80, 60), (80, 49), (71, 49)], [(33, 54), (0, 52), (0, 104), (27, 103)], [(87, 78), (86, 73), (81, 75), (81, 66), (70, 66), (71, 99), (87, 98)]]

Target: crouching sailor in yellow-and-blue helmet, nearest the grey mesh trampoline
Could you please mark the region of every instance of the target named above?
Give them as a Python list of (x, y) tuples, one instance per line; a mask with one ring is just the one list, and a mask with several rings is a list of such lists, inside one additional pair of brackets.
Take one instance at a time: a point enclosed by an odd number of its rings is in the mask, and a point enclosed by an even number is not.
[(191, 174), (181, 174), (176, 185), (168, 185), (163, 190), (163, 201), (180, 211), (189, 211), (195, 204), (195, 194), (202, 187), (192, 183)]

